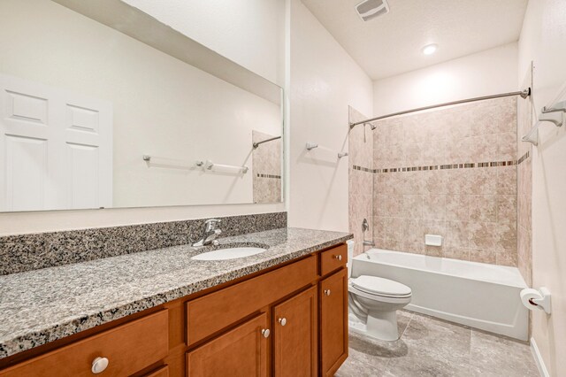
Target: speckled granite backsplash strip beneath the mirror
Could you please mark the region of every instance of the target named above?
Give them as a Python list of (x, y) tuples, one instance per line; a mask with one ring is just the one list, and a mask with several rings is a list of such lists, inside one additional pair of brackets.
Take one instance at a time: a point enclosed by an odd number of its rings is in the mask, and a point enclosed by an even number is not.
[[(221, 237), (287, 227), (287, 212), (219, 219), (222, 219)], [(189, 219), (125, 227), (2, 236), (0, 275), (190, 244), (201, 237), (203, 222), (204, 219)]]

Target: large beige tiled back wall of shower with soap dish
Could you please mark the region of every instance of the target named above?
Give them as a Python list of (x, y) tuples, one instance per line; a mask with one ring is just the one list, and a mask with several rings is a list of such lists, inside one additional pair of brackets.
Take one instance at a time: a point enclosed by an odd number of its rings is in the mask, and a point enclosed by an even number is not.
[(386, 119), (373, 137), (376, 247), (517, 264), (515, 97)]

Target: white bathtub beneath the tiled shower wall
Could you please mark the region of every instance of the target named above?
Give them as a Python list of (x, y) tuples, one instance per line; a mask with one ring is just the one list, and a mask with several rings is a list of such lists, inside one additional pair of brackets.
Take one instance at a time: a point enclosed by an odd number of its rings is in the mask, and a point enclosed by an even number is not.
[(352, 261), (352, 277), (360, 275), (409, 286), (410, 311), (528, 339), (529, 313), (519, 297), (527, 286), (515, 267), (371, 249)]

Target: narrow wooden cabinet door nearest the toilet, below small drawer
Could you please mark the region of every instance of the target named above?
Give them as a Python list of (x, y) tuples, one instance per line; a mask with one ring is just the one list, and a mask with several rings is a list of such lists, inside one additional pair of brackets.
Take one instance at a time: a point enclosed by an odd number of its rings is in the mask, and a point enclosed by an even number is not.
[(346, 269), (320, 281), (321, 373), (333, 376), (348, 358), (348, 274)]

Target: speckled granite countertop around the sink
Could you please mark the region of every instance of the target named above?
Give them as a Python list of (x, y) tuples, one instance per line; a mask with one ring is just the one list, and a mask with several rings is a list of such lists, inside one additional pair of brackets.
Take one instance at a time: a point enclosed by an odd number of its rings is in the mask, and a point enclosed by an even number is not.
[(0, 276), (0, 358), (351, 239), (348, 233), (301, 228), (221, 238), (269, 246), (224, 261), (191, 257), (190, 245)]

